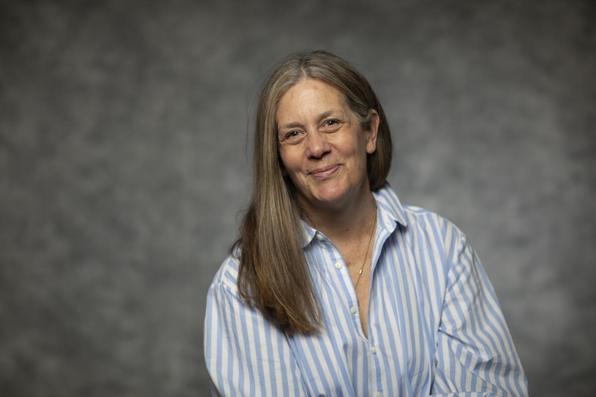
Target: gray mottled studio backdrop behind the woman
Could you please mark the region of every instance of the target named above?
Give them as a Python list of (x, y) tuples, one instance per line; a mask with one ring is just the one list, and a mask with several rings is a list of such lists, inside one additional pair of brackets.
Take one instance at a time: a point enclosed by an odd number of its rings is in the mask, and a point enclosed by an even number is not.
[(377, 90), (402, 202), (471, 237), (532, 395), (594, 395), (594, 2), (0, 7), (2, 397), (206, 395), (254, 95), (313, 48)]

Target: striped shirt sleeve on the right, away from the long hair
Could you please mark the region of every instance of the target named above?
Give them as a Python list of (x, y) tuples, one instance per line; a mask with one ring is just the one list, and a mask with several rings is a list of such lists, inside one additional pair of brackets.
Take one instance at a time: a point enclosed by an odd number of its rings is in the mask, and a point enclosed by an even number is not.
[(463, 233), (451, 255), (434, 354), (433, 396), (527, 396), (495, 291)]

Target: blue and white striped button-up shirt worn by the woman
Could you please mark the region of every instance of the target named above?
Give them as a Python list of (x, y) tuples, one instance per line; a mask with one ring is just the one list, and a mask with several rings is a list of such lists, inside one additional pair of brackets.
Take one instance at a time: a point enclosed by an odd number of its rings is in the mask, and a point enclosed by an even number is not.
[(213, 395), (527, 396), (495, 292), (467, 237), (433, 212), (402, 207), (387, 184), (374, 196), (368, 338), (339, 249), (303, 223), (324, 330), (281, 332), (240, 298), (238, 261), (228, 257), (207, 294)]

